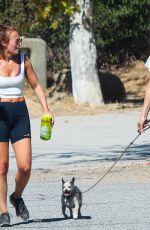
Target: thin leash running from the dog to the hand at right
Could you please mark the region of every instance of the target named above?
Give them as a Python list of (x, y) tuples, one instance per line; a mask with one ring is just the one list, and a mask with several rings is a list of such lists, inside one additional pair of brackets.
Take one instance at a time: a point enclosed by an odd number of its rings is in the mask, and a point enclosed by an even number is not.
[[(143, 129), (143, 132), (148, 130), (150, 128), (150, 125), (148, 124), (150, 122), (150, 120), (146, 120), (145, 121), (145, 128)], [(138, 139), (138, 137), (142, 134), (142, 132), (140, 130), (138, 130), (138, 135), (128, 144), (128, 146), (125, 148), (125, 150), (121, 153), (121, 155), (117, 158), (117, 160), (113, 163), (113, 165), (107, 170), (107, 172), (93, 185), (91, 186), (89, 189), (83, 191), (82, 193), (86, 193), (88, 191), (90, 191), (91, 189), (93, 189), (100, 181), (102, 181), (104, 179), (104, 177), (112, 170), (112, 168), (117, 164), (117, 162), (123, 157), (123, 155), (125, 154), (125, 152), (127, 151), (127, 149)]]

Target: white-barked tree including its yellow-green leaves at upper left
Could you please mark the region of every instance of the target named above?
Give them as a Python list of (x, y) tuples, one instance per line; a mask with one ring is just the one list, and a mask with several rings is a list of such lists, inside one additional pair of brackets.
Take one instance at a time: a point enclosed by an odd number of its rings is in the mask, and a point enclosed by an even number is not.
[[(103, 103), (96, 66), (96, 47), (92, 33), (92, 1), (35, 1), (37, 22), (53, 19), (57, 29), (63, 14), (71, 17), (70, 60), (72, 89), (77, 103), (98, 106)], [(59, 9), (59, 10), (58, 10)], [(79, 10), (80, 9), (80, 10)], [(56, 14), (55, 14), (56, 12)], [(78, 60), (78, 61), (77, 61)]]

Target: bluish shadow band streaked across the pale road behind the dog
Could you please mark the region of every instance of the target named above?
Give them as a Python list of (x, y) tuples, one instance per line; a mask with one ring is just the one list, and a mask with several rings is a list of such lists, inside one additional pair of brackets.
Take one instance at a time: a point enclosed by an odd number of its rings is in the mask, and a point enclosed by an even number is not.
[[(40, 160), (41, 158), (49, 161), (53, 159), (57, 165), (77, 165), (116, 161), (117, 158), (124, 152), (126, 146), (111, 145), (106, 147), (92, 147), (78, 146), (75, 151), (44, 153), (38, 156), (33, 156), (33, 160)], [(150, 158), (150, 145), (132, 145), (124, 153), (121, 160), (146, 160)]]

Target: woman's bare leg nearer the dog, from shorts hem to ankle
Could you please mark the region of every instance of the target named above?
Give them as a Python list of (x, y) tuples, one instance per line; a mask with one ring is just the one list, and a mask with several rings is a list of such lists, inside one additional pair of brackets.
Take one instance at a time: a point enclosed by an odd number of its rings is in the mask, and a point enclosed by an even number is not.
[(15, 179), (15, 197), (20, 198), (30, 178), (32, 162), (31, 139), (24, 138), (15, 142), (13, 144), (13, 149), (18, 167), (18, 172)]

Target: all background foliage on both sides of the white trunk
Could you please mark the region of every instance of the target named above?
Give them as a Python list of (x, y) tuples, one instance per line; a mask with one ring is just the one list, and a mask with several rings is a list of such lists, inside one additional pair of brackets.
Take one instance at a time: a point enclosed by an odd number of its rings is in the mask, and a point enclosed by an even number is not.
[[(0, 23), (16, 26), (22, 36), (44, 39), (50, 47), (48, 69), (56, 72), (70, 65), (69, 18), (79, 10), (75, 3), (0, 0)], [(99, 67), (149, 55), (150, 1), (93, 0), (93, 12)]]

